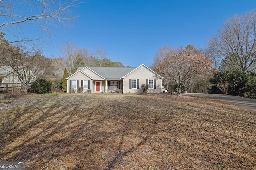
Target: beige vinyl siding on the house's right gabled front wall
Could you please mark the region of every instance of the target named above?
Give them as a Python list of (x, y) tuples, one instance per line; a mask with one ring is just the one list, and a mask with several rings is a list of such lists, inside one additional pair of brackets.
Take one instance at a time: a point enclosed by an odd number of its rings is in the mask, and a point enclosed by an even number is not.
[[(144, 71), (142, 71), (142, 67), (144, 68)], [(140, 89), (129, 89), (129, 79), (139, 79)], [(143, 65), (136, 68), (133, 72), (124, 77), (123, 92), (143, 93), (141, 84), (146, 84), (146, 79), (156, 79), (156, 89), (148, 89), (148, 92), (161, 92), (161, 79), (156, 78), (155, 74)]]

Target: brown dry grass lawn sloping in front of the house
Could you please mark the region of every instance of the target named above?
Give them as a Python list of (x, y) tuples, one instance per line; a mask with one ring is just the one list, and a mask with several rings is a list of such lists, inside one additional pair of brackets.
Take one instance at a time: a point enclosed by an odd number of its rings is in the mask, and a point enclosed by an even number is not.
[(0, 161), (32, 170), (256, 169), (256, 115), (225, 102), (136, 94), (34, 100), (2, 109)]

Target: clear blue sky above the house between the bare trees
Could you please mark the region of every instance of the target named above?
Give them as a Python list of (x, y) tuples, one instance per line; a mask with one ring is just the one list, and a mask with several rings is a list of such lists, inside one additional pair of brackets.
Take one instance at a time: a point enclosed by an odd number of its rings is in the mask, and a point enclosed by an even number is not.
[(75, 28), (53, 29), (43, 54), (59, 57), (58, 46), (71, 40), (89, 51), (102, 46), (126, 66), (150, 66), (160, 47), (204, 49), (227, 17), (255, 8), (256, 0), (86, 0), (76, 9)]

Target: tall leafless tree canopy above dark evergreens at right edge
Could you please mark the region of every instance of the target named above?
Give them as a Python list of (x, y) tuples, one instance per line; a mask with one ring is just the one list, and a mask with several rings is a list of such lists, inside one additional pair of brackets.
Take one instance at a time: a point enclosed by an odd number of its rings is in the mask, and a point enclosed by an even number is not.
[(228, 18), (209, 41), (216, 65), (228, 70), (256, 70), (256, 10)]

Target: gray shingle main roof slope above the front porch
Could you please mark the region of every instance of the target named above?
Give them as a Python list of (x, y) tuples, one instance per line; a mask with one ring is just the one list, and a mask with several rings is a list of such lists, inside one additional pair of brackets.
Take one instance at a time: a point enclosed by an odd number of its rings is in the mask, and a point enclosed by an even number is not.
[[(84, 67), (78, 67), (82, 70)], [(88, 67), (106, 79), (121, 79), (123, 76), (134, 70), (134, 67)]]

